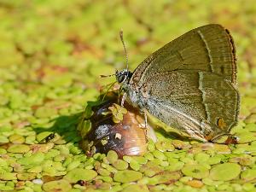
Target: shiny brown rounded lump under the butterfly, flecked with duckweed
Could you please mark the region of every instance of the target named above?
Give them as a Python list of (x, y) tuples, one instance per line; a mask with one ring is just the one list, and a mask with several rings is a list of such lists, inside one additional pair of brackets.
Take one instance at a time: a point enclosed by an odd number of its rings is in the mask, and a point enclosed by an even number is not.
[[(155, 140), (153, 129), (149, 125), (148, 129), (144, 128), (143, 115), (126, 102), (124, 107), (127, 112), (122, 114), (123, 117), (119, 122), (114, 123), (114, 114), (109, 108), (116, 106), (116, 103), (118, 103), (117, 94), (110, 92), (104, 97), (104, 102), (90, 107), (93, 112), (87, 119), (90, 120), (90, 131), (84, 135), (82, 142), (87, 154), (98, 152), (107, 154), (109, 150), (114, 150), (119, 157), (143, 155), (147, 151), (148, 137)], [(81, 127), (79, 130), (81, 131)]]

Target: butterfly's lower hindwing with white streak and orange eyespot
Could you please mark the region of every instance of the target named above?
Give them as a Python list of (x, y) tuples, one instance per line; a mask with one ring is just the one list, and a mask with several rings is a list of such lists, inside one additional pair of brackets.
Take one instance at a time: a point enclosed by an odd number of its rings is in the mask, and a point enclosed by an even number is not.
[(238, 91), (216, 73), (156, 73), (141, 92), (149, 113), (190, 137), (212, 139), (227, 133), (237, 122)]

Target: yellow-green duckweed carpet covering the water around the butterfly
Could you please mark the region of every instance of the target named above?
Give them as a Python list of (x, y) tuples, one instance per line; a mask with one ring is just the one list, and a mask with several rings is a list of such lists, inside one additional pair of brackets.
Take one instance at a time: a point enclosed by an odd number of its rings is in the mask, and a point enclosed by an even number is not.
[[(252, 0), (2, 1), (0, 191), (255, 191), (255, 6)], [(115, 81), (99, 75), (125, 67), (119, 30), (132, 71), (207, 23), (224, 25), (236, 44), (241, 110), (230, 133), (237, 144), (201, 143), (164, 127), (142, 156), (85, 154), (81, 136), (93, 114), (84, 108)], [(126, 113), (118, 109), (110, 108), (115, 122)]]

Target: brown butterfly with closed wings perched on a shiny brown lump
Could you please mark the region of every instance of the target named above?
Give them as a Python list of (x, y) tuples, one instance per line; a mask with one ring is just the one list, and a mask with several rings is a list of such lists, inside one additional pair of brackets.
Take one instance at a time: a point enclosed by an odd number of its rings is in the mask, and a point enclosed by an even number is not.
[(203, 142), (238, 120), (236, 49), (218, 24), (200, 26), (149, 55), (132, 73), (115, 73), (124, 96), (166, 125)]

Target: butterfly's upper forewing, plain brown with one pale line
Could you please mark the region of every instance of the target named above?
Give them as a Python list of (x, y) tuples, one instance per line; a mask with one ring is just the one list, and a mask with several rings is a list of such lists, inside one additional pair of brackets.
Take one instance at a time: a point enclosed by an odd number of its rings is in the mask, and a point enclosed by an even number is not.
[(236, 84), (236, 50), (230, 32), (218, 24), (195, 28), (149, 55), (130, 84), (141, 87), (154, 73), (195, 70), (217, 73)]

